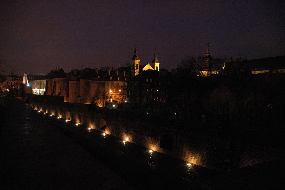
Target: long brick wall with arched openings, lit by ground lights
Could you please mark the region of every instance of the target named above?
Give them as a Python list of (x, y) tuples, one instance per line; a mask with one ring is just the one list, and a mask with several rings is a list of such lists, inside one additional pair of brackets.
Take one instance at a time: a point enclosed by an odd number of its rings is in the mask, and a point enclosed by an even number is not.
[[(226, 159), (230, 152), (225, 128), (80, 103), (33, 99), (30, 100), (30, 105), (34, 109), (70, 119), (102, 133), (212, 169), (219, 168), (219, 161)], [(274, 156), (270, 157), (269, 152)], [(239, 154), (238, 159), (231, 157), (231, 165), (243, 167), (281, 159), (284, 150), (282, 152), (279, 148), (245, 144)]]

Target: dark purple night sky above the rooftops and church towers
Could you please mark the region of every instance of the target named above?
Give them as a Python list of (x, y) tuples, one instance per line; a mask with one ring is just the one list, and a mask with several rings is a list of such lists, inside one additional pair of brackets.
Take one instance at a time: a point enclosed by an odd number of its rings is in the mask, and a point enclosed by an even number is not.
[(282, 1), (1, 1), (4, 71), (46, 75), (186, 56), (258, 59), (285, 55)]

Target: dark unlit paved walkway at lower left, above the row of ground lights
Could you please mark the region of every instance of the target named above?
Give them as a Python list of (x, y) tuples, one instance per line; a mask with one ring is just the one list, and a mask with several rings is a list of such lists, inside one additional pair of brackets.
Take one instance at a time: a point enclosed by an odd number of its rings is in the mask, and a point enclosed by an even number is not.
[(134, 189), (46, 121), (9, 99), (0, 133), (1, 189)]

